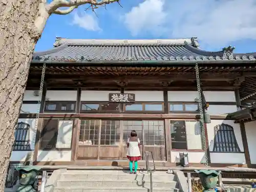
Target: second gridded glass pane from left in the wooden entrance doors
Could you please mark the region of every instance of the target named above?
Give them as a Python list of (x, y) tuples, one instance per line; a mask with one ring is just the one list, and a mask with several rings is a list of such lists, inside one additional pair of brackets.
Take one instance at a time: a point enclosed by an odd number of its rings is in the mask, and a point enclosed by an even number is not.
[(120, 143), (120, 121), (102, 120), (100, 145), (119, 145)]

